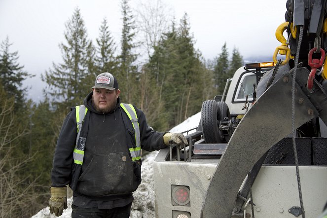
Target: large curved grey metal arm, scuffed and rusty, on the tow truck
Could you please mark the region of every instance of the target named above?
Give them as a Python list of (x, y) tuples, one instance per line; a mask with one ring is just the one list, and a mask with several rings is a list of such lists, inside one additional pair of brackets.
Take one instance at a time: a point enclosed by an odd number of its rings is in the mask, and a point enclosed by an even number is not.
[[(291, 132), (291, 80), (289, 73), (282, 76), (239, 123), (209, 185), (201, 217), (230, 218), (238, 190), (255, 162)], [(297, 84), (295, 102), (295, 128), (318, 115)]]

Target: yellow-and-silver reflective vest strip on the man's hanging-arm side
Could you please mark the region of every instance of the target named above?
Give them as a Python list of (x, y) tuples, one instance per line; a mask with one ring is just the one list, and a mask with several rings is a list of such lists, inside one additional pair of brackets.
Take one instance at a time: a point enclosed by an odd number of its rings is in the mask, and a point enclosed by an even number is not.
[(73, 158), (75, 164), (83, 164), (85, 140), (80, 139), (79, 135), (80, 135), (80, 130), (82, 129), (87, 108), (84, 105), (80, 105), (80, 106), (76, 106), (75, 109), (76, 109), (77, 137), (76, 137), (75, 148), (73, 151)]

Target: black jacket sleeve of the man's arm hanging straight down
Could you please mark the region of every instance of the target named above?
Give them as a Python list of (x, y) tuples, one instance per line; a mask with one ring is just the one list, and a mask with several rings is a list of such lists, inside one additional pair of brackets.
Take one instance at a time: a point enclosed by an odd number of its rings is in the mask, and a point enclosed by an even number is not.
[(73, 149), (77, 136), (76, 113), (73, 109), (60, 130), (51, 170), (52, 186), (69, 184), (72, 174)]

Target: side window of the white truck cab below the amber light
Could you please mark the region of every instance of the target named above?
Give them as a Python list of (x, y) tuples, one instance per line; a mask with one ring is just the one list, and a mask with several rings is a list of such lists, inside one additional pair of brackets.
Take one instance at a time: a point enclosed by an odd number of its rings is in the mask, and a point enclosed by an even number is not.
[(245, 102), (246, 95), (248, 100), (253, 101), (254, 85), (256, 86), (256, 76), (254, 73), (245, 73), (238, 84), (235, 102)]

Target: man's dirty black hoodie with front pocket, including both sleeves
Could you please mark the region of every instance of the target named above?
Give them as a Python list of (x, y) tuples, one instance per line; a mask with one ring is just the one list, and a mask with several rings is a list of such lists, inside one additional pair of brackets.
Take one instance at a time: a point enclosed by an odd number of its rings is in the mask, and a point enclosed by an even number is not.
[[(77, 135), (73, 109), (67, 115), (57, 141), (51, 171), (52, 186), (70, 184), (74, 195), (81, 194), (95, 200), (122, 199), (130, 196), (140, 182), (134, 174), (129, 153), (129, 147), (135, 146), (134, 129), (120, 107), (120, 98), (115, 109), (104, 114), (94, 109), (92, 94), (89, 93), (84, 99), (89, 112), (82, 127), (88, 126), (83, 165), (75, 170), (76, 164), (73, 163)], [(142, 149), (153, 151), (166, 147), (164, 133), (148, 127), (143, 111), (134, 108), (140, 125)], [(72, 178), (78, 178), (78, 182), (73, 181), (72, 184)]]

